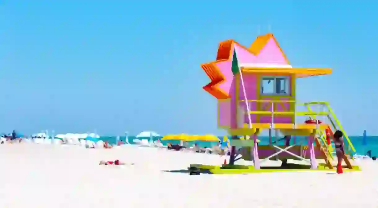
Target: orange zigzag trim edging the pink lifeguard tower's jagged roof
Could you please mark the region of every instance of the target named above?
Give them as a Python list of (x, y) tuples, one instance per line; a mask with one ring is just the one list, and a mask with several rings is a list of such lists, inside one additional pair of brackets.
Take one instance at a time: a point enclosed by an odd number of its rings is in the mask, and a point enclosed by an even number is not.
[[(239, 45), (239, 47), (242, 47), (245, 50), (257, 56), (257, 54), (260, 53), (262, 48), (265, 47), (266, 43), (268, 43), (268, 41), (271, 38), (273, 38), (274, 42), (276, 42), (277, 46), (279, 47), (277, 40), (274, 38), (273, 34), (271, 33), (267, 33), (265, 35), (257, 37), (256, 40), (254, 40), (254, 42), (251, 44), (249, 48), (246, 48), (240, 45), (240, 43), (232, 39), (220, 42), (219, 47), (218, 47), (216, 61), (212, 61), (206, 64), (201, 64), (201, 67), (203, 68), (206, 75), (208, 75), (208, 77), (211, 80), (211, 82), (205, 85), (203, 89), (206, 90), (208, 93), (210, 93), (212, 96), (214, 96), (217, 99), (230, 98), (230, 96), (228, 95), (228, 92), (225, 92), (224, 90), (219, 88), (219, 85), (225, 81), (225, 76), (222, 74), (222, 72), (220, 72), (219, 68), (217, 67), (217, 63), (229, 61), (232, 58), (232, 54), (233, 54), (232, 44), (237, 44)], [(283, 53), (282, 49), (280, 47), (279, 49), (281, 50), (283, 56), (285, 57), (285, 60), (288, 62), (287, 57)]]

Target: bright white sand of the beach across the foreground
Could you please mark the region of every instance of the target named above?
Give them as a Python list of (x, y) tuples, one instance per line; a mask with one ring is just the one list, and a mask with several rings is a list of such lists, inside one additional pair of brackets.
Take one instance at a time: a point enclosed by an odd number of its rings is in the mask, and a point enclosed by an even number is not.
[[(378, 206), (378, 163), (363, 171), (189, 175), (162, 170), (221, 164), (217, 155), (138, 148), (0, 145), (0, 207), (364, 207)], [(119, 159), (134, 166), (99, 166)], [(284, 188), (280, 189), (280, 188)], [(338, 192), (336, 192), (338, 188)]]

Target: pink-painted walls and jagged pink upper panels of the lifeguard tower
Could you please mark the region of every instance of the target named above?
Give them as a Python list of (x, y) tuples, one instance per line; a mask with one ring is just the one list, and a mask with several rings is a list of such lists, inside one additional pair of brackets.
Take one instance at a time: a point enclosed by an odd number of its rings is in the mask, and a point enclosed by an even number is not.
[[(266, 45), (262, 48), (259, 54), (255, 56), (254, 54), (250, 53), (245, 48), (240, 47), (237, 44), (233, 44), (233, 49), (237, 54), (237, 59), (240, 64), (288, 64), (285, 57), (282, 54), (282, 51), (277, 46), (274, 39), (270, 39)], [(232, 51), (231, 50), (231, 51)], [(218, 68), (222, 72), (223, 76), (225, 76), (225, 81), (219, 85), (219, 88), (228, 92), (231, 99), (228, 102), (220, 102), (219, 103), (219, 112), (218, 112), (218, 120), (220, 126), (230, 126), (231, 128), (237, 127), (236, 122), (236, 115), (235, 115), (235, 77), (232, 74), (231, 66), (232, 66), (232, 59), (226, 62), (217, 63)], [(243, 74), (243, 80), (246, 88), (247, 99), (248, 100), (256, 100), (257, 98), (256, 91), (257, 91), (257, 77), (256, 75), (252, 74)], [(289, 85), (291, 86), (291, 84)], [(242, 82), (239, 81), (239, 99), (243, 100), (244, 93)], [(262, 98), (261, 99), (270, 99), (270, 98)], [(287, 100), (288, 98), (280, 98), (281, 100)], [(239, 105), (246, 109), (245, 102), (239, 102)], [(284, 104), (288, 108), (288, 103)], [(250, 110), (256, 111), (257, 109), (256, 102), (250, 102)], [(270, 107), (268, 108), (270, 110)], [(280, 104), (277, 104), (277, 111), (283, 110), (283, 107)], [(251, 115), (252, 123), (257, 123), (257, 116)], [(249, 123), (248, 115), (245, 116), (245, 122)], [(270, 123), (271, 116), (260, 116), (260, 123)], [(275, 123), (291, 123), (290, 117), (281, 117), (275, 116), (274, 117)]]

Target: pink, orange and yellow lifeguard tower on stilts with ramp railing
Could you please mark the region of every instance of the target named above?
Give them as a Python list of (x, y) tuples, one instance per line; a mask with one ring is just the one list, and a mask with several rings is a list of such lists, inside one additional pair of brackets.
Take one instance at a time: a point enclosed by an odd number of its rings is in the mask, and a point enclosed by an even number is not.
[[(243, 147), (239, 154), (254, 162), (253, 168), (242, 168), (249, 169), (246, 172), (269, 169), (260, 166), (266, 160), (287, 159), (307, 161), (310, 169), (333, 169), (326, 131), (337, 129), (344, 133), (346, 168), (356, 169), (350, 163), (355, 149), (328, 102), (296, 100), (297, 78), (329, 75), (330, 68), (292, 67), (271, 33), (257, 37), (249, 48), (234, 40), (223, 41), (216, 61), (201, 67), (211, 79), (203, 89), (218, 99), (218, 127), (232, 135), (229, 165), (234, 165), (236, 147)], [(269, 143), (257, 145), (264, 129), (269, 131)], [(293, 144), (278, 145), (279, 133)], [(245, 135), (251, 139), (240, 140)], [(325, 163), (318, 164), (317, 158)]]

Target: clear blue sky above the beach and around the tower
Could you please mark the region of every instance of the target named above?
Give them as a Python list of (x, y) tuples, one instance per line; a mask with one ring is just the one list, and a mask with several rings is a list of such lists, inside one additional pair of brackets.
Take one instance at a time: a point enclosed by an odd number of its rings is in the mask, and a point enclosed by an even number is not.
[(222, 134), (200, 64), (272, 32), (294, 67), (333, 68), (298, 80), (298, 100), (378, 134), (378, 3), (204, 2), (2, 1), (0, 131)]

